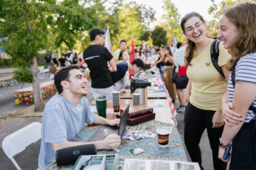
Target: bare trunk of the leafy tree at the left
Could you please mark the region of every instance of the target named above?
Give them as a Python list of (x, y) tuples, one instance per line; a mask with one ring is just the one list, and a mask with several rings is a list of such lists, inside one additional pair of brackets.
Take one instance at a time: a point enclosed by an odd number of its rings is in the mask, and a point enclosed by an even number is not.
[(32, 60), (31, 73), (33, 76), (32, 86), (33, 86), (33, 101), (35, 103), (35, 112), (42, 112), (44, 110), (44, 101), (42, 99), (42, 93), (40, 88), (40, 83), (38, 80), (38, 62), (36, 57)]

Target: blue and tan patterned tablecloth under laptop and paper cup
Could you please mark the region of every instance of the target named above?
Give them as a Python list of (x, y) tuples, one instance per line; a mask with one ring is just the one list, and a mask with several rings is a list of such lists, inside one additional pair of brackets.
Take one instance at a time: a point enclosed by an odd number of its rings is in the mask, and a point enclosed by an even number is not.
[[(119, 159), (125, 158), (140, 158), (140, 159), (158, 159), (158, 160), (182, 160), (187, 161), (186, 154), (182, 145), (182, 139), (177, 129), (172, 124), (151, 120), (137, 126), (127, 126), (126, 131), (152, 131), (155, 132), (158, 126), (172, 126), (171, 135), (169, 135), (169, 146), (167, 148), (160, 148), (158, 146), (158, 137), (144, 138), (139, 141), (130, 141), (122, 139), (122, 145), (115, 150), (101, 150), (97, 154), (119, 154)], [(73, 141), (87, 141), (94, 132), (102, 126), (86, 127), (81, 131)], [(134, 148), (143, 148), (145, 152), (136, 156), (132, 155), (130, 150)], [(57, 167), (54, 161), (48, 165), (48, 169), (72, 169), (72, 165)]]

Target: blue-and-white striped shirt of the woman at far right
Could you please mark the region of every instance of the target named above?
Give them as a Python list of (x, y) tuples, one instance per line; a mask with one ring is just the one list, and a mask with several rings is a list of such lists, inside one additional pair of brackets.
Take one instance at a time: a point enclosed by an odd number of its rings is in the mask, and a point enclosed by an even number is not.
[[(236, 81), (238, 80), (256, 83), (256, 52), (242, 56), (236, 64)], [(233, 102), (234, 88), (231, 75), (229, 75), (227, 87), (229, 90), (229, 102)], [(256, 97), (253, 100), (253, 107), (256, 107)], [(256, 113), (253, 113), (253, 111), (249, 109), (244, 122), (248, 123), (255, 119), (255, 114)]]

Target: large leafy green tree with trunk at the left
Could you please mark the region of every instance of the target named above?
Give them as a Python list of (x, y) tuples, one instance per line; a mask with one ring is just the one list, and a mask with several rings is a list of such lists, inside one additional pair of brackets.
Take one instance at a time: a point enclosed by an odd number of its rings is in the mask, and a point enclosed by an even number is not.
[(0, 4), (0, 36), (8, 37), (3, 48), (18, 68), (14, 78), (32, 83), (35, 111), (42, 111), (38, 51), (45, 48), (50, 33), (56, 47), (64, 42), (72, 48), (77, 33), (96, 26), (96, 11), (83, 7), (80, 0), (0, 0)]

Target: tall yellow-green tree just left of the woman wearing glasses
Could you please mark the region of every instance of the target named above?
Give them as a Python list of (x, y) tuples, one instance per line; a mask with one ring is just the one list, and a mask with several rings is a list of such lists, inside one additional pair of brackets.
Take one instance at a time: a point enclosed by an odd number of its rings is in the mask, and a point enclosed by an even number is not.
[(163, 18), (167, 20), (167, 24), (169, 26), (169, 37), (175, 35), (178, 41), (182, 41), (184, 39), (184, 35), (180, 27), (180, 14), (177, 10), (177, 7), (175, 7), (174, 3), (172, 3), (171, 0), (164, 0), (164, 5), (162, 6), (162, 9), (165, 10)]

